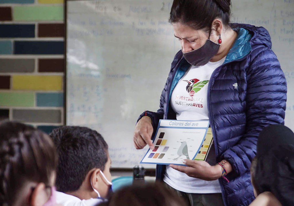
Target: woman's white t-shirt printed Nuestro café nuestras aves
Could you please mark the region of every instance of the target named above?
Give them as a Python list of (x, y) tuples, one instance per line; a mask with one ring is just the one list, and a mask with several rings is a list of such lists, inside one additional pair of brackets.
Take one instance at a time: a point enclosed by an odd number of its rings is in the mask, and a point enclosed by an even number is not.
[[(207, 88), (213, 71), (223, 64), (225, 57), (203, 66), (191, 66), (178, 81), (171, 95), (171, 107), (177, 120), (208, 120)], [(189, 177), (166, 166), (163, 181), (186, 193), (221, 193), (218, 180), (205, 181)]]

